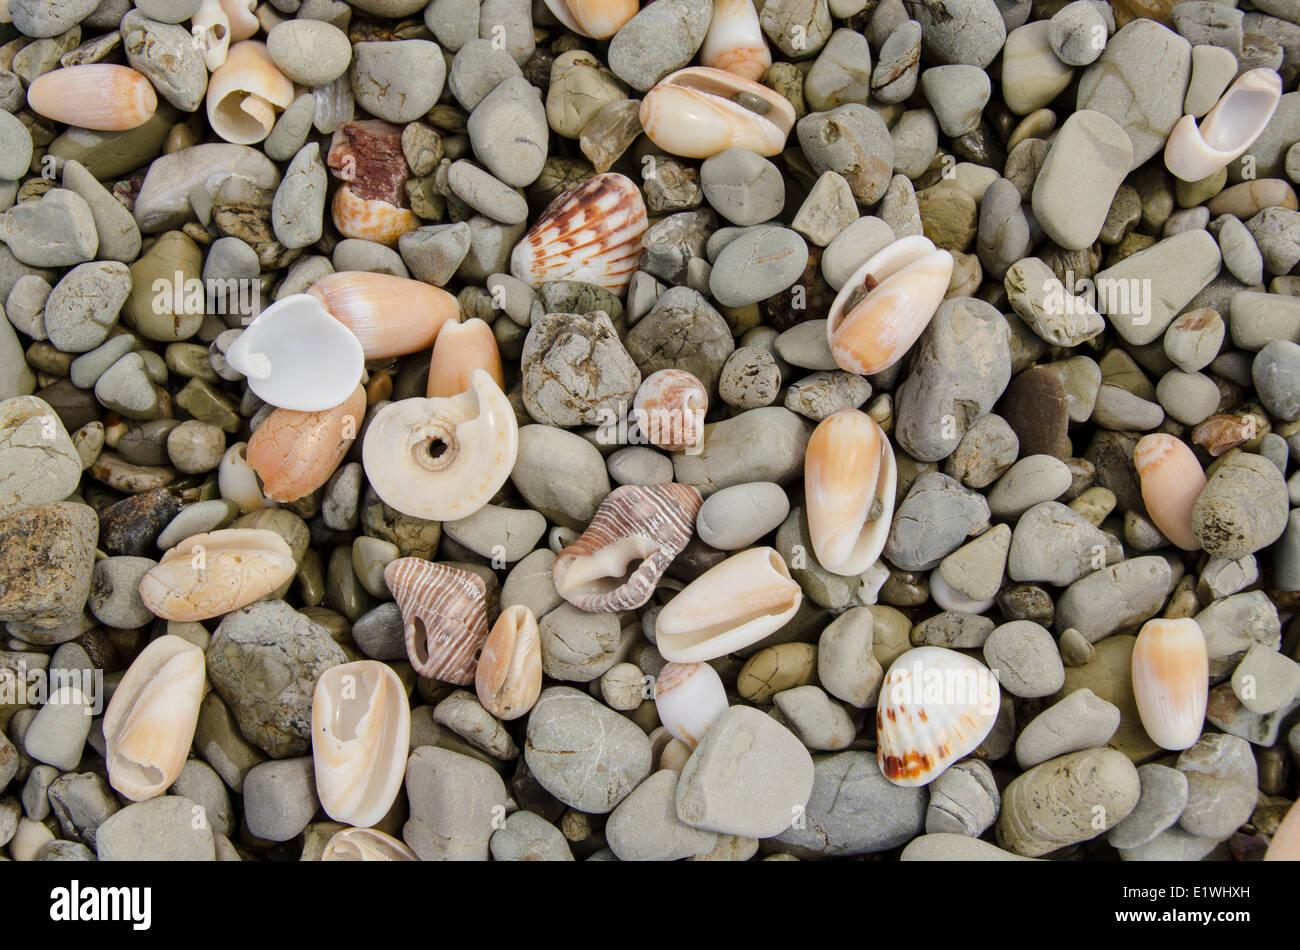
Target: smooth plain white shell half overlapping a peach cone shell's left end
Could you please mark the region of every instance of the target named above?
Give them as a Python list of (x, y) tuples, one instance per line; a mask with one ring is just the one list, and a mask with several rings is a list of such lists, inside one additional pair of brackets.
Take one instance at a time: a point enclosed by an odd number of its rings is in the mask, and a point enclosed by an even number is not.
[(226, 363), (259, 399), (299, 412), (338, 405), (365, 372), (360, 340), (308, 294), (281, 298), (259, 313), (226, 350)]

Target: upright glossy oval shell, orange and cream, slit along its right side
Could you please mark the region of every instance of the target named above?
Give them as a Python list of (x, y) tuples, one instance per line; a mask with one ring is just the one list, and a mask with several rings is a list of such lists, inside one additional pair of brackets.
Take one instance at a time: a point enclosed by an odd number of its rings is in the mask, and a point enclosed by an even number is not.
[(854, 577), (876, 563), (897, 486), (889, 437), (871, 416), (841, 409), (818, 422), (803, 456), (803, 495), (822, 567)]

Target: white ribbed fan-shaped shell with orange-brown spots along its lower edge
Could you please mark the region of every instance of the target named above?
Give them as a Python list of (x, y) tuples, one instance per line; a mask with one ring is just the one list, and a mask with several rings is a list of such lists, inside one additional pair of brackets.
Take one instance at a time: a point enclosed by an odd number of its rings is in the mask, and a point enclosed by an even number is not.
[(894, 785), (915, 788), (975, 751), (1001, 708), (997, 677), (956, 650), (923, 646), (889, 667), (876, 706), (876, 762)]

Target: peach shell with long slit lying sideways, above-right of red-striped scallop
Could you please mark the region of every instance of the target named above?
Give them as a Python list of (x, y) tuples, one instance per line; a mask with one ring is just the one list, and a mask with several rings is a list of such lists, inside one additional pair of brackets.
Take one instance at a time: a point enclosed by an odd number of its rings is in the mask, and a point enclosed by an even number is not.
[(794, 127), (794, 107), (780, 92), (725, 69), (670, 73), (641, 100), (641, 127), (659, 148), (708, 159), (728, 148), (779, 155)]

